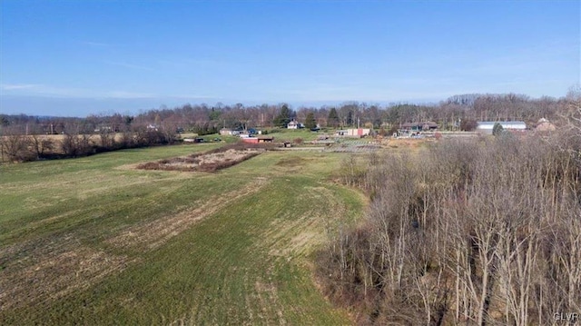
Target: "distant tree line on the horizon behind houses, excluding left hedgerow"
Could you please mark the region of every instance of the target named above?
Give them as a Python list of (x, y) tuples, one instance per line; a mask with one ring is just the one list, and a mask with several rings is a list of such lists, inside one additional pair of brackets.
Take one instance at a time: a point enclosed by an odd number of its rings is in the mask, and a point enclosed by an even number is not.
[(522, 94), (462, 94), (449, 97), (438, 104), (366, 104), (346, 102), (320, 107), (300, 106), (292, 109), (289, 104), (222, 103), (184, 104), (179, 107), (152, 109), (136, 115), (89, 115), (84, 118), (36, 117), (25, 114), (0, 114), (3, 130), (12, 133), (67, 133), (80, 130), (96, 133), (102, 128), (115, 132), (154, 124), (166, 129), (185, 131), (217, 131), (223, 127), (244, 129), (250, 127), (271, 128), (285, 126), (292, 120), (309, 126), (352, 127), (366, 126), (390, 129), (402, 123), (436, 122), (442, 130), (468, 130), (476, 121), (519, 120), (527, 124), (547, 118), (554, 123), (562, 122), (566, 104), (578, 96), (571, 90), (565, 97), (530, 98)]

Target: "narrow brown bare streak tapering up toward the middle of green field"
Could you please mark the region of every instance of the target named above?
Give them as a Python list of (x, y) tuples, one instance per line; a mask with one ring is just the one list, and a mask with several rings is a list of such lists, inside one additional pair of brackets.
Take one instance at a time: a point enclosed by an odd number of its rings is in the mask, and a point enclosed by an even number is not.
[(135, 225), (107, 242), (120, 248), (146, 248), (150, 250), (157, 248), (175, 235), (187, 230), (193, 223), (219, 212), (225, 205), (251, 193), (257, 193), (266, 183), (266, 179), (257, 178), (254, 183), (251, 183), (251, 186), (245, 189), (223, 193), (192, 210)]

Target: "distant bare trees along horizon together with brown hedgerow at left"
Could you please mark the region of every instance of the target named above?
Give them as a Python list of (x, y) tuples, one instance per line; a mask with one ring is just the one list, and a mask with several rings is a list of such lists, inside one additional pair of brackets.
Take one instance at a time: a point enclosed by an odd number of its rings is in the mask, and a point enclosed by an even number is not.
[[(288, 104), (224, 105), (185, 104), (162, 107), (137, 115), (89, 115), (38, 117), (0, 114), (0, 149), (3, 161), (30, 161), (56, 156), (81, 156), (121, 148), (172, 143), (178, 131), (217, 133), (222, 127), (284, 127), (291, 120), (306, 127), (367, 126), (393, 133), (401, 123), (433, 121), (441, 130), (471, 130), (477, 120), (524, 120), (536, 123), (547, 118), (565, 123), (567, 104), (579, 98), (572, 89), (566, 97), (531, 99), (517, 94), (464, 94), (440, 104), (344, 103), (337, 106), (300, 107)], [(115, 136), (123, 133), (123, 136)], [(62, 134), (63, 140), (39, 137)], [(32, 135), (32, 137), (28, 137)], [(92, 137), (89, 135), (93, 135)], [(20, 137), (26, 136), (26, 137)], [(95, 140), (95, 137), (97, 140)]]

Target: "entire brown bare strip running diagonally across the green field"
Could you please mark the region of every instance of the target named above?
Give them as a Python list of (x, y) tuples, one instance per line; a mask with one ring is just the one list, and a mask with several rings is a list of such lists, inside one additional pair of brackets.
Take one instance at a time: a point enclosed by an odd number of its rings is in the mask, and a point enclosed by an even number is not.
[[(192, 210), (130, 227), (105, 243), (121, 249), (152, 250), (267, 183), (267, 179), (257, 178), (243, 189), (212, 197)], [(84, 246), (71, 233), (0, 247), (0, 321), (2, 311), (88, 289), (136, 262), (139, 259)]]

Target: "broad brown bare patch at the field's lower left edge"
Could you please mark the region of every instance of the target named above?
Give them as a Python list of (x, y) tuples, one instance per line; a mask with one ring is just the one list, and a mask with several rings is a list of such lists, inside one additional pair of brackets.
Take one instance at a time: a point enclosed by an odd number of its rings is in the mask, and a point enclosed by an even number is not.
[(55, 300), (87, 289), (128, 264), (126, 256), (80, 246), (74, 236), (0, 250), (0, 311)]

